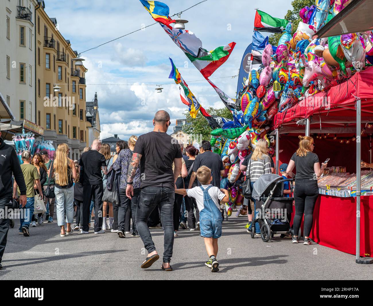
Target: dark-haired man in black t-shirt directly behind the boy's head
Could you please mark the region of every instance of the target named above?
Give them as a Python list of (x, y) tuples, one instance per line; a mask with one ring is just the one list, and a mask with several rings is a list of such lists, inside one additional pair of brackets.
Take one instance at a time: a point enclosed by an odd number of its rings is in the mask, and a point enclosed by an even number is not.
[[(189, 180), (189, 189), (192, 188), (193, 182), (197, 177), (198, 168), (202, 166), (206, 166), (211, 170), (211, 184), (217, 188), (220, 188), (220, 176), (224, 175), (224, 164), (219, 154), (211, 152), (211, 145), (207, 140), (202, 140), (200, 154), (195, 157), (193, 173)], [(199, 181), (197, 181), (197, 186), (201, 186)]]

